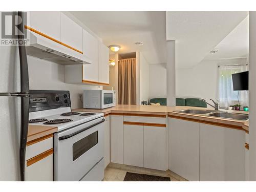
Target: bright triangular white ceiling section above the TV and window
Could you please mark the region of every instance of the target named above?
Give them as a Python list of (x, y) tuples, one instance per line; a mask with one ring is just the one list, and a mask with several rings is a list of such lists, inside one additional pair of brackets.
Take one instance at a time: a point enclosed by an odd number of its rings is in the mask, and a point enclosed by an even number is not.
[(215, 54), (208, 53), (204, 60), (248, 57), (249, 15), (234, 28), (216, 47)]

